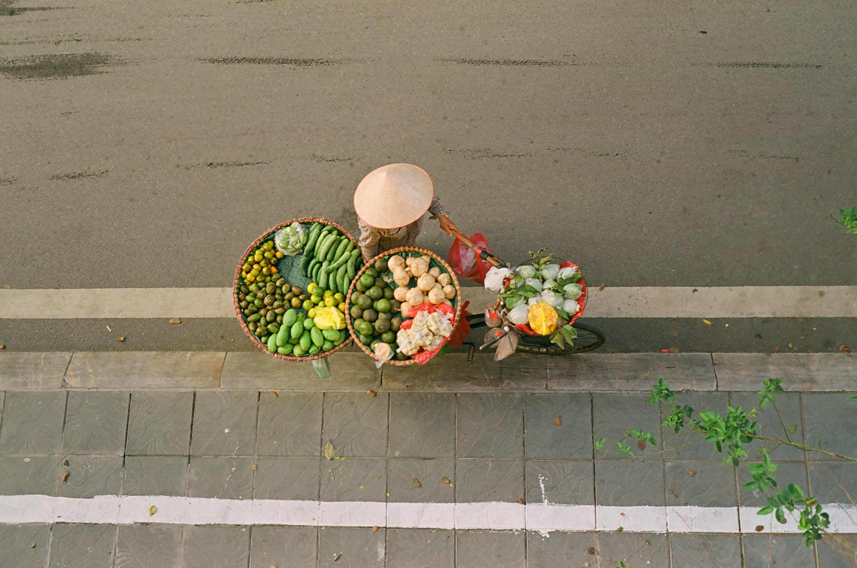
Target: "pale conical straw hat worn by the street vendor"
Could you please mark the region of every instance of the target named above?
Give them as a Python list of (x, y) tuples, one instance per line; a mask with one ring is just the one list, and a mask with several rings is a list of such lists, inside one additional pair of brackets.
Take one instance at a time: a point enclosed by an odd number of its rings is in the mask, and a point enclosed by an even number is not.
[(354, 211), (375, 229), (395, 229), (423, 217), (433, 197), (434, 182), (423, 168), (387, 164), (357, 184)]

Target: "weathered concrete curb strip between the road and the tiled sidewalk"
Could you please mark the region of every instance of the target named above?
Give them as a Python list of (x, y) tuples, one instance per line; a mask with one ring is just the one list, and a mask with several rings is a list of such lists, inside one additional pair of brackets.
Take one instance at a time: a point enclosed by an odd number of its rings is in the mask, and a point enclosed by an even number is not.
[(840, 353), (516, 354), (499, 363), (454, 353), (425, 367), (382, 369), (363, 354), (338, 353), (330, 367), (331, 378), (320, 380), (309, 363), (246, 351), (4, 352), (0, 390), (616, 392), (648, 391), (664, 377), (680, 391), (757, 391), (779, 377), (789, 391), (857, 391), (857, 357)]

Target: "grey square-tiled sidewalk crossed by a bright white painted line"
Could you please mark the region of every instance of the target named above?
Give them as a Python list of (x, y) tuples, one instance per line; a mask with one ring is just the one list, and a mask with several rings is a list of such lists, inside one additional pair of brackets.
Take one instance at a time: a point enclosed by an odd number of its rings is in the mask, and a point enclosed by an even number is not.
[[(779, 406), (798, 439), (853, 455), (850, 396), (789, 392)], [(740, 489), (746, 473), (692, 436), (662, 432), (644, 398), (9, 391), (0, 566), (848, 565), (824, 545), (817, 560), (791, 522), (771, 533), (753, 514), (764, 501)], [(752, 392), (680, 399), (698, 410), (758, 404)], [(776, 420), (770, 407), (760, 416)], [(629, 427), (660, 433), (659, 444), (633, 460), (612, 451)], [(842, 488), (857, 487), (857, 466), (773, 455), (781, 482), (849, 505)], [(855, 513), (836, 517), (837, 529), (857, 533)]]

